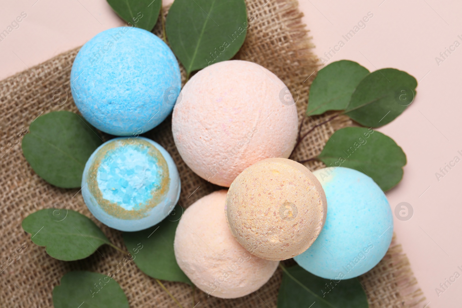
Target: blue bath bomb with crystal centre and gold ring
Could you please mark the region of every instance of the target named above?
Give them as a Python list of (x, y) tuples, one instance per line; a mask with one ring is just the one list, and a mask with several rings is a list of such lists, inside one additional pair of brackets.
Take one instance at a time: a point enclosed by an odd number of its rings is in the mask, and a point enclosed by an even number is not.
[(109, 140), (91, 154), (82, 176), (85, 204), (100, 222), (139, 231), (167, 217), (180, 198), (173, 159), (143, 137)]

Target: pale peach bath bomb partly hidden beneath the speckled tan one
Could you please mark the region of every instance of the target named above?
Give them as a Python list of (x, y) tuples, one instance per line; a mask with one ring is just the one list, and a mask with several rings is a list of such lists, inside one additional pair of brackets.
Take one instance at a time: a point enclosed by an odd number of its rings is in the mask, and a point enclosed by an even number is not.
[(279, 262), (245, 250), (226, 224), (226, 190), (197, 200), (176, 228), (176, 262), (202, 291), (221, 298), (245, 296), (273, 276)]

